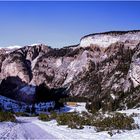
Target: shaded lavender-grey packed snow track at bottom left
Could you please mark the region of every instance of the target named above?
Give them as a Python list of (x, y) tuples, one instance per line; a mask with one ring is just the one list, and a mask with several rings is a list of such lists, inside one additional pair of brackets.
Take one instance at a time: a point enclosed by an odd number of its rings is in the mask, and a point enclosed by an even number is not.
[(0, 139), (55, 139), (53, 135), (33, 124), (34, 119), (19, 117), (17, 123), (0, 123)]

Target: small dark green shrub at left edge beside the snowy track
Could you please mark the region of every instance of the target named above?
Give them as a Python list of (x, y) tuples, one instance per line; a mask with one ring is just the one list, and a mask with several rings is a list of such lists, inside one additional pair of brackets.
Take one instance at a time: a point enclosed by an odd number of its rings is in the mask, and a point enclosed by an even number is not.
[(0, 122), (3, 121), (15, 122), (16, 118), (11, 112), (0, 111)]

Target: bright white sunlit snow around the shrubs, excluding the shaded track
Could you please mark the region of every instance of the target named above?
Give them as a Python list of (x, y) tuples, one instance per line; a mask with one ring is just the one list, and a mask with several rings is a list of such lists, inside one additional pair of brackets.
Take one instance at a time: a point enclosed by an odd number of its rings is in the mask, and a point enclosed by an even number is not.
[[(77, 106), (77, 111), (84, 111), (85, 103), (78, 103), (81, 105), (79, 108)], [(75, 111), (73, 107), (70, 107)], [(138, 113), (138, 117), (134, 117), (134, 120), (140, 126), (140, 108), (129, 109), (124, 111), (119, 111), (121, 113), (127, 113), (128, 115), (132, 113)], [(137, 130), (125, 130), (120, 131), (120, 133), (114, 134), (112, 137), (108, 134), (107, 131), (96, 132), (95, 127), (85, 126), (84, 129), (70, 129), (67, 126), (58, 126), (55, 120), (49, 122), (42, 122), (40, 120), (33, 121), (34, 124), (38, 125), (43, 130), (47, 131), (49, 134), (57, 137), (57, 139), (89, 139), (89, 140), (140, 140), (140, 129)]]

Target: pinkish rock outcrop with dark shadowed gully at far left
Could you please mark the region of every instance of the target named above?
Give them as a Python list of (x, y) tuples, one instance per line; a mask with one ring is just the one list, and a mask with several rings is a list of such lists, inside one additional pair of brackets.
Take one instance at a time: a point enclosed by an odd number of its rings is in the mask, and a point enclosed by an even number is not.
[(10, 52), (2, 59), (1, 79), (9, 76), (18, 76), (22, 81), (29, 83), (32, 79), (32, 69), (39, 56), (42, 56), (49, 47), (44, 45), (25, 46)]

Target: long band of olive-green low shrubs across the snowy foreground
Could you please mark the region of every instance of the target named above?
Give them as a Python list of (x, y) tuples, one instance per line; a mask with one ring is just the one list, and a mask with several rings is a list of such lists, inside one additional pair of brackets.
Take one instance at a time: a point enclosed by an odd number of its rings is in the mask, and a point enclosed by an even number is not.
[(105, 117), (103, 113), (96, 112), (89, 114), (82, 112), (61, 113), (52, 112), (49, 115), (40, 114), (39, 119), (42, 121), (50, 121), (56, 119), (58, 125), (67, 125), (71, 129), (82, 129), (84, 125), (95, 126), (97, 131), (111, 130), (132, 130), (138, 128), (131, 116), (121, 113), (108, 114)]

